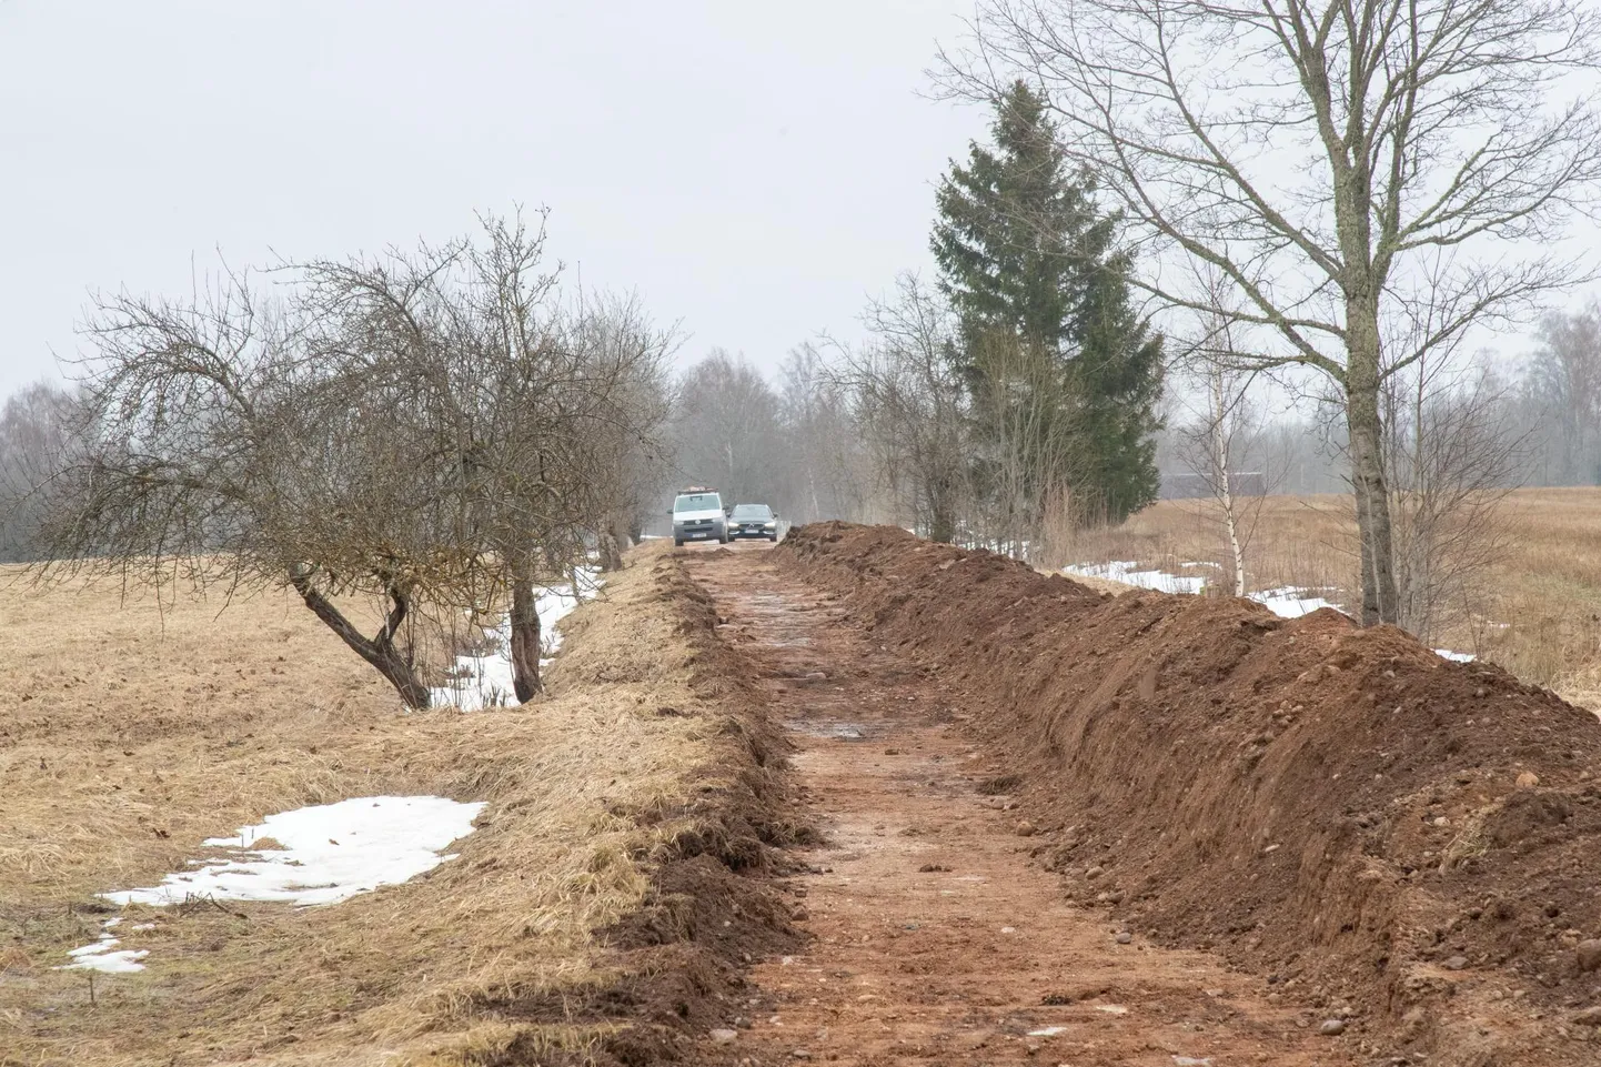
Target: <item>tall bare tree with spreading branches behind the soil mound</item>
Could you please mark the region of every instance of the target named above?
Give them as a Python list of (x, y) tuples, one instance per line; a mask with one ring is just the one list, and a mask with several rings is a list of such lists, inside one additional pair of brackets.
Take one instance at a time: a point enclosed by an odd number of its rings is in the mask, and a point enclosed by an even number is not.
[[(1247, 368), (1332, 381), (1377, 623), (1399, 618), (1385, 378), (1575, 279), (1553, 242), (1601, 184), (1598, 21), (1580, 0), (981, 0), (945, 74), (986, 101), (1037, 85), (1143, 242), (1135, 282), (1260, 332)], [(1194, 263), (1228, 306), (1185, 285)]]

